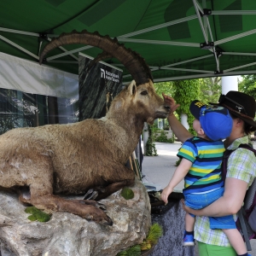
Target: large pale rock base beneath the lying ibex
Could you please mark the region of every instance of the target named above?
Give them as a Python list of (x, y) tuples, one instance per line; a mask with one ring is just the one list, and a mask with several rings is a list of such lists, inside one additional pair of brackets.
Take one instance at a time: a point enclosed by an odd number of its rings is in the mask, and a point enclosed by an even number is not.
[(113, 226), (88, 222), (66, 212), (54, 212), (46, 223), (31, 222), (18, 196), (1, 191), (2, 256), (113, 256), (141, 243), (151, 225), (150, 203), (140, 181), (130, 188), (134, 192), (131, 200), (125, 200), (119, 190), (101, 201)]

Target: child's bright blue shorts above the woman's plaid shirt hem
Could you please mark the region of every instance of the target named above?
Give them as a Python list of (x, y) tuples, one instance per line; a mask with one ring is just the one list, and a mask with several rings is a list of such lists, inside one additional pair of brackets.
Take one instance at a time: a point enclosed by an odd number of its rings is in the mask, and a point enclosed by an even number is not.
[[(202, 193), (202, 194), (185, 194), (185, 205), (199, 210), (201, 208), (207, 207), (212, 204), (213, 201), (218, 200), (224, 194), (224, 187), (215, 189), (211, 192)], [(195, 215), (190, 214), (195, 217)], [(236, 229), (236, 222), (233, 218), (233, 215), (223, 216), (223, 217), (209, 217), (210, 228), (214, 229)]]

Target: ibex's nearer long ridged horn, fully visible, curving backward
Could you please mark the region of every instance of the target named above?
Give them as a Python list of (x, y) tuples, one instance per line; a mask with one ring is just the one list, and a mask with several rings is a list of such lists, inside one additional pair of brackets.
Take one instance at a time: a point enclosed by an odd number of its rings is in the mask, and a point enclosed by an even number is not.
[(88, 44), (101, 48), (104, 52), (118, 59), (127, 68), (137, 85), (148, 83), (148, 79), (153, 81), (151, 71), (141, 55), (125, 48), (124, 44), (119, 44), (116, 38), (103, 37), (98, 32), (90, 33), (84, 30), (82, 32), (62, 33), (59, 38), (54, 38), (49, 44), (45, 45), (39, 63), (42, 64), (44, 56), (51, 49), (65, 44)]

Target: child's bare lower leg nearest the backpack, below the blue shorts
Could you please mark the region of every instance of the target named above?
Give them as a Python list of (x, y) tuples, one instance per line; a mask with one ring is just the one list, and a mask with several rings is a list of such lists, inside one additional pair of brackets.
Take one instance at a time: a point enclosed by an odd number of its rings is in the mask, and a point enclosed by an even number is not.
[(228, 236), (231, 246), (235, 249), (238, 255), (247, 253), (247, 247), (241, 237), (241, 234), (236, 229), (223, 230), (224, 234)]

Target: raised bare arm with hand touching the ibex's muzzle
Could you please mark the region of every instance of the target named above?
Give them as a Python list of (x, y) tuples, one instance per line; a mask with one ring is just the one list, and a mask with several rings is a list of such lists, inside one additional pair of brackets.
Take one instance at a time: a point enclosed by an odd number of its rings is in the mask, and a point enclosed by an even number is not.
[(173, 114), (174, 111), (180, 106), (179, 104), (176, 104), (174, 99), (170, 96), (166, 96), (164, 93), (162, 94), (164, 97), (165, 104), (170, 107), (170, 114), (167, 117), (168, 122), (172, 128), (172, 131), (176, 135), (176, 137), (184, 143), (187, 139), (190, 137), (193, 137), (193, 135), (179, 122), (179, 120), (175, 117)]

